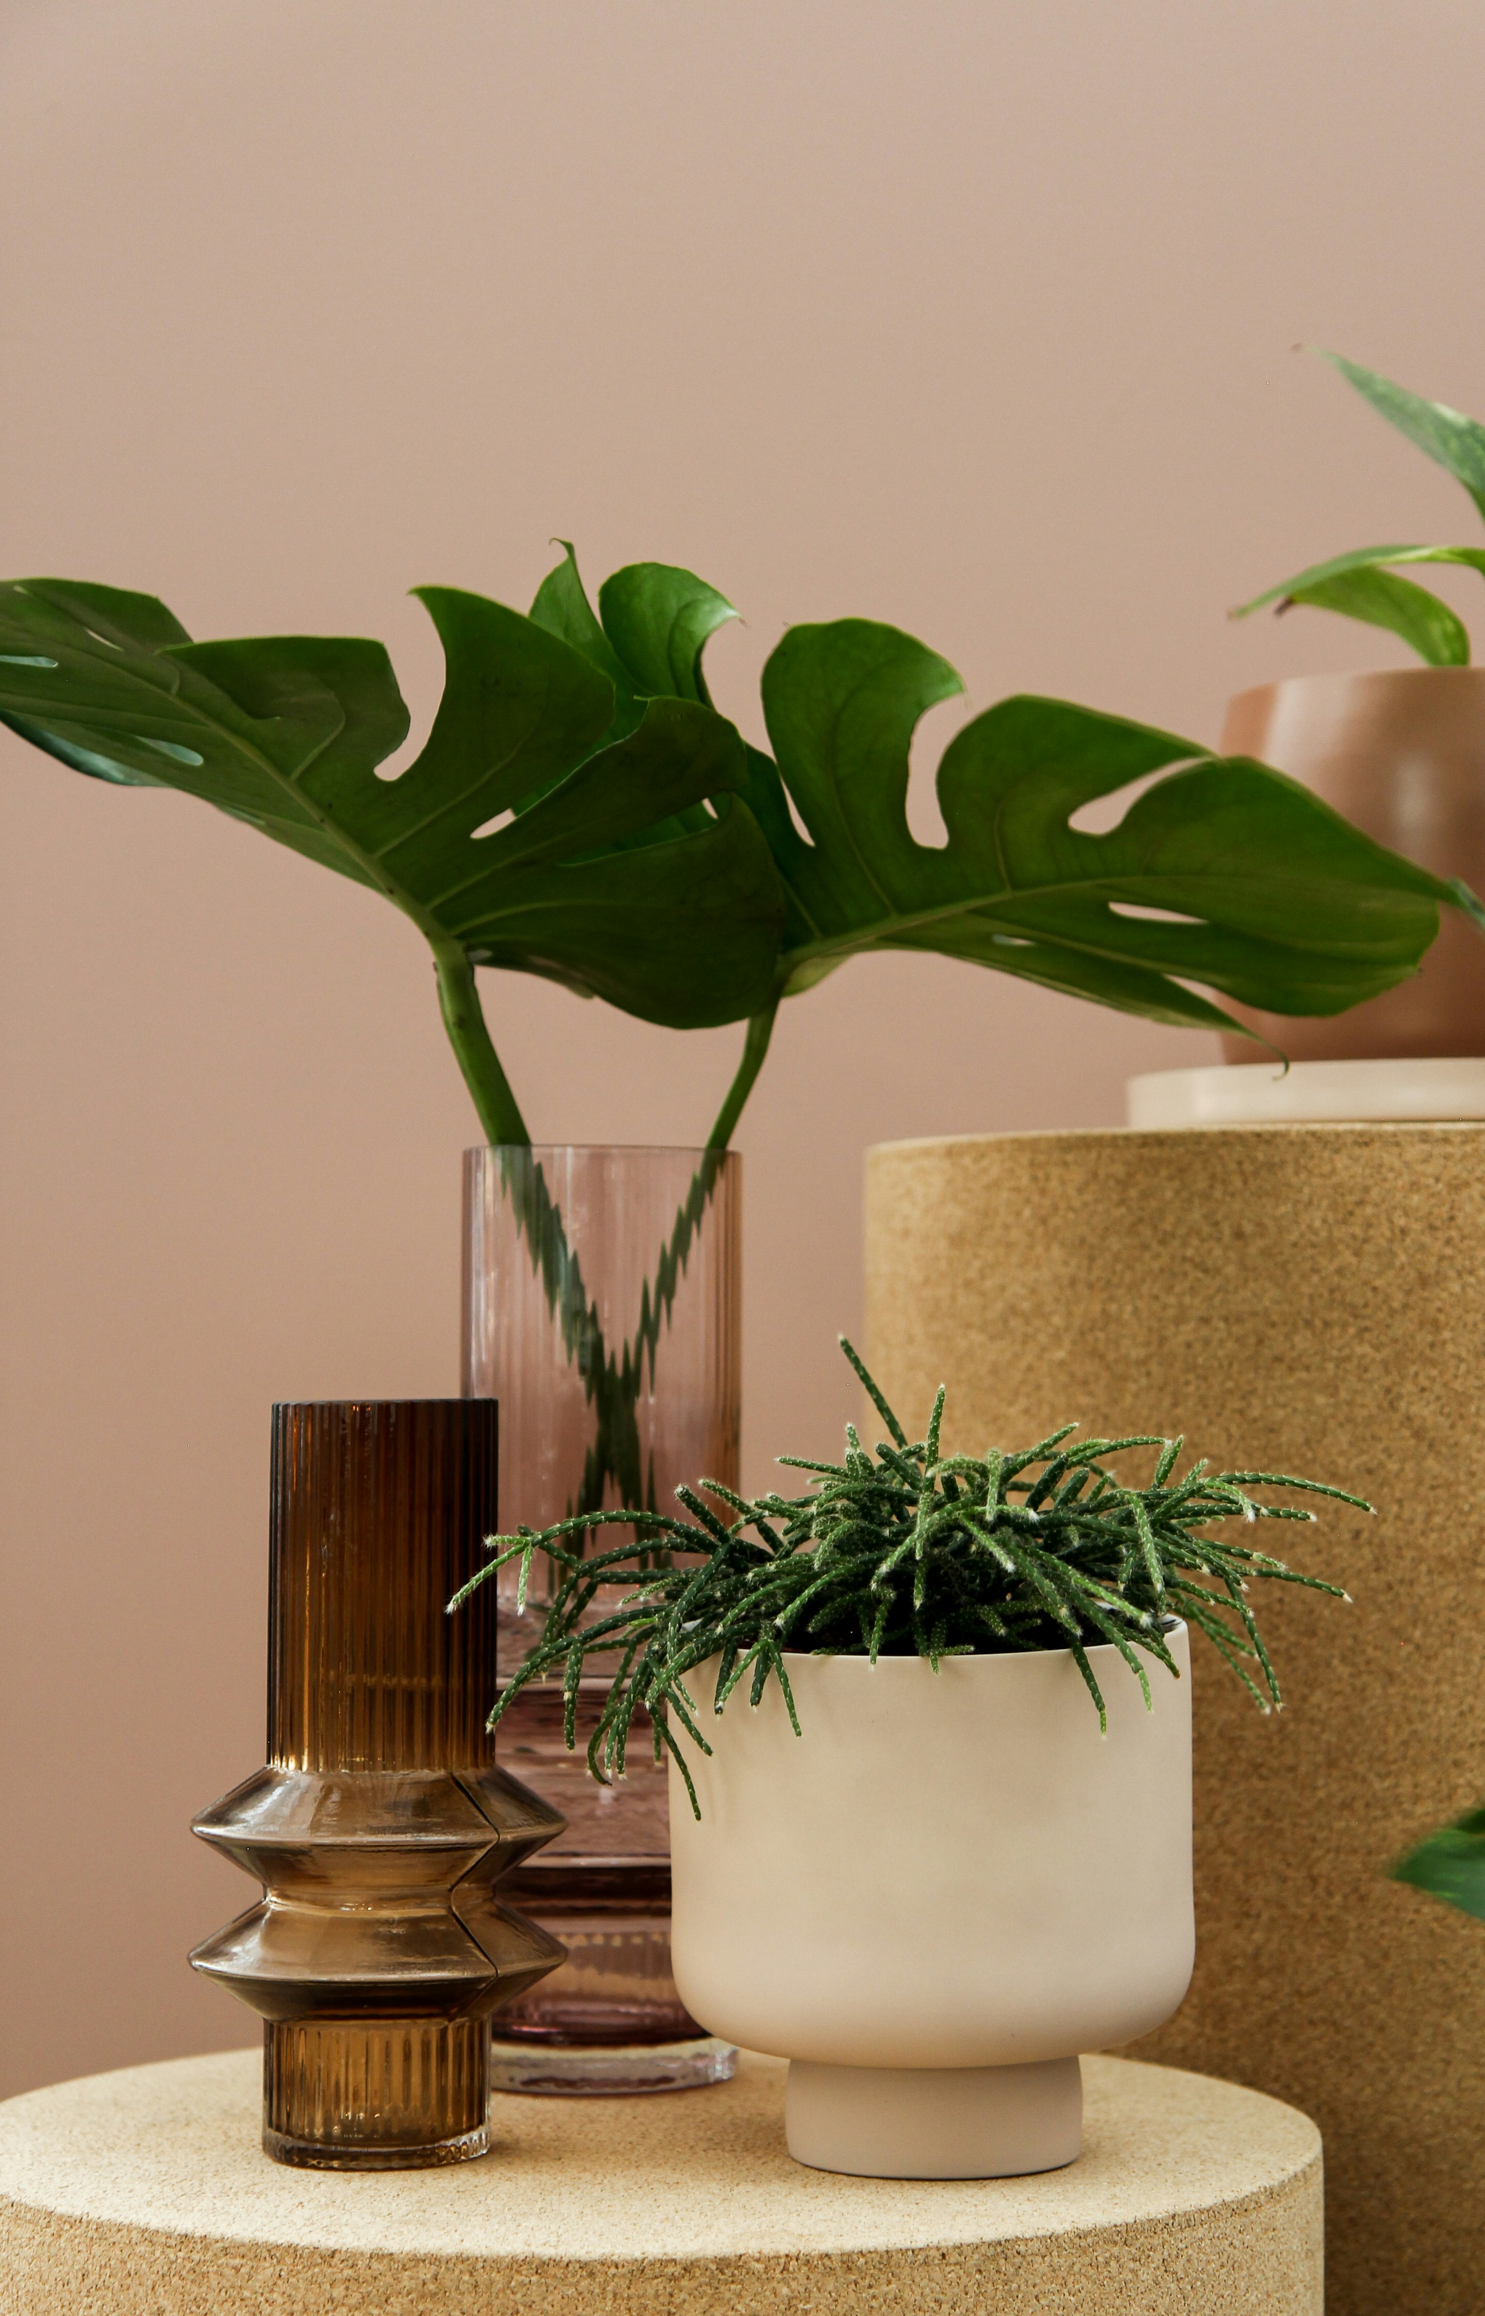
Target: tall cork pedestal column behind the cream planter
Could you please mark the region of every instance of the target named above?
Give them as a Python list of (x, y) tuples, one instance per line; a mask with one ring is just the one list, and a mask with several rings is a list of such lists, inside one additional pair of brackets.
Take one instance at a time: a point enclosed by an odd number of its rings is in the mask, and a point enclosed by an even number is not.
[(954, 1448), (1184, 1431), (1381, 1508), (1283, 1531), (1355, 1596), (1256, 1596), (1283, 1714), (1193, 1665), (1195, 1980), (1147, 2047), (1316, 2117), (1332, 2316), (1478, 2311), (1485, 1936), (1385, 1869), (1485, 1793), (1485, 1126), (876, 1149), (866, 1350)]

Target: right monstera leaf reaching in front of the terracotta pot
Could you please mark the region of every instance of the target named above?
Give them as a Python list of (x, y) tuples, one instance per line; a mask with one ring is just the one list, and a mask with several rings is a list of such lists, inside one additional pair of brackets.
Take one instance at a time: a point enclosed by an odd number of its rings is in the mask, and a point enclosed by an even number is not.
[[(1385, 852), (1300, 783), (1059, 699), (1005, 699), (938, 769), (945, 845), (908, 831), (908, 743), (959, 688), (869, 621), (792, 628), (765, 679), (778, 774), (809, 843), (778, 862), (815, 933), (790, 989), (862, 950), (936, 950), (1156, 1021), (1214, 1026), (1198, 982), (1330, 1014), (1418, 968), (1453, 887)], [(1168, 771), (1096, 836), (1073, 815)]]

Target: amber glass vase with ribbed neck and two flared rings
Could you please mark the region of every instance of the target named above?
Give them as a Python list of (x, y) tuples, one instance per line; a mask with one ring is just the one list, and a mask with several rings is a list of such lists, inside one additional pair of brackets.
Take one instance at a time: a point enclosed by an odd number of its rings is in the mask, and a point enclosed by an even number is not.
[(496, 1769), (496, 1401), (273, 1408), (269, 1762), (195, 1820), (264, 1885), (190, 1957), (264, 2017), (264, 2147), (489, 2145), (489, 2015), (563, 1962), (496, 1883), (563, 1818)]

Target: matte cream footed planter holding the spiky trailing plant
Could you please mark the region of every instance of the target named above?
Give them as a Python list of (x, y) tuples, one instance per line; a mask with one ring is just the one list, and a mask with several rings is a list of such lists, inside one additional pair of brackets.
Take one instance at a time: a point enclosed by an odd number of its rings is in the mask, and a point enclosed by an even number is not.
[(709, 2033), (790, 2061), (788, 2145), (820, 2170), (989, 2179), (1070, 2163), (1077, 2052), (1163, 2024), (1186, 1992), (1191, 1679), (1154, 1712), (1089, 1649), (790, 1656), (758, 1712), (693, 1677), (711, 1758), (672, 1765), (672, 1957)]

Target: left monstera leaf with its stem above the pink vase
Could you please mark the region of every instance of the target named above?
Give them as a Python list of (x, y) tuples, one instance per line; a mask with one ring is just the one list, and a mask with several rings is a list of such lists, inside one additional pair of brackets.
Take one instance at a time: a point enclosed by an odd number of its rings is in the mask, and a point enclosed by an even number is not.
[(487, 1130), (524, 1139), (514, 1105), (487, 1114), (505, 1082), (470, 966), (672, 1028), (734, 1021), (767, 1003), (783, 901), (734, 801), (732, 725), (679, 697), (616, 713), (614, 676), (540, 623), (452, 588), (422, 600), (447, 686), (394, 780), (375, 767), (408, 711), (380, 644), (192, 644), (164, 604), (114, 588), (0, 591), (0, 716), (76, 771), (204, 797), (394, 901), (433, 950)]

